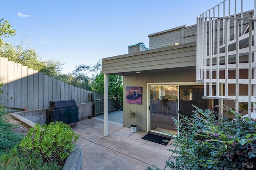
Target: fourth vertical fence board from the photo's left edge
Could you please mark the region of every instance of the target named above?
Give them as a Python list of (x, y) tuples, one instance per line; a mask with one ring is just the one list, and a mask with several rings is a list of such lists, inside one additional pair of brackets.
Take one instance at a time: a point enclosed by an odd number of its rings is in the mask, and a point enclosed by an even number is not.
[(28, 67), (21, 68), (21, 108), (28, 107)]

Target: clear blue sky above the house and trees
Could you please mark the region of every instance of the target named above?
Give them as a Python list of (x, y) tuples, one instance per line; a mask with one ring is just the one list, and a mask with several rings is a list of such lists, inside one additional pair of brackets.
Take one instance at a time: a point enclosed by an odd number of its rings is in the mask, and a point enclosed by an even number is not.
[[(245, 0), (244, 11), (253, 9)], [(93, 65), (102, 58), (128, 53), (128, 46), (149, 34), (196, 24), (196, 16), (222, 0), (2, 0), (0, 18), (8, 20), (18, 45), (29, 36), (30, 47), (43, 60), (59, 60), (62, 73)], [(249, 3), (250, 2), (250, 3)]]

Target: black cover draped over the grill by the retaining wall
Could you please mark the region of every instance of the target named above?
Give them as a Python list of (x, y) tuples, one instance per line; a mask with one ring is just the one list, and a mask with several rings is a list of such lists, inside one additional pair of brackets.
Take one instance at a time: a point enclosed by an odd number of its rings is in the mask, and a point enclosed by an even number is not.
[(50, 101), (46, 110), (46, 124), (62, 121), (66, 124), (78, 122), (78, 107), (75, 100)]

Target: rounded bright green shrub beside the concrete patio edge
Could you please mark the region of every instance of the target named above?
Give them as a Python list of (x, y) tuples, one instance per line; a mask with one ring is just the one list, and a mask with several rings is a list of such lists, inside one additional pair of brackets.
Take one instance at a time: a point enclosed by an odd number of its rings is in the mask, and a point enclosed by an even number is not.
[(55, 161), (59, 165), (64, 165), (78, 137), (70, 126), (62, 122), (51, 122), (42, 126), (36, 124), (35, 127), (30, 128), (28, 135), (22, 138), (20, 144), (12, 148), (12, 152), (35, 154), (43, 162)]

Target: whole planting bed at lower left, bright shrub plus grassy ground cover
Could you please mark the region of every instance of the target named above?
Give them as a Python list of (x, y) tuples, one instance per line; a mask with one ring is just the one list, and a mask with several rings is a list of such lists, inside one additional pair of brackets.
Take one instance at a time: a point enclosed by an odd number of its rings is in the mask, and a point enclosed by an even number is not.
[[(2, 119), (0, 125), (1, 122)], [(5, 130), (1, 135), (11, 134), (12, 129), (6, 130), (6, 123), (3, 125)], [(36, 124), (29, 129), (25, 137), (18, 135), (14, 138), (15, 135), (18, 134), (12, 132), (12, 135), (1, 140), (6, 143), (6, 147), (1, 148), (0, 169), (60, 170), (78, 139), (78, 135), (74, 134), (71, 127), (62, 122), (52, 122), (43, 126)]]

